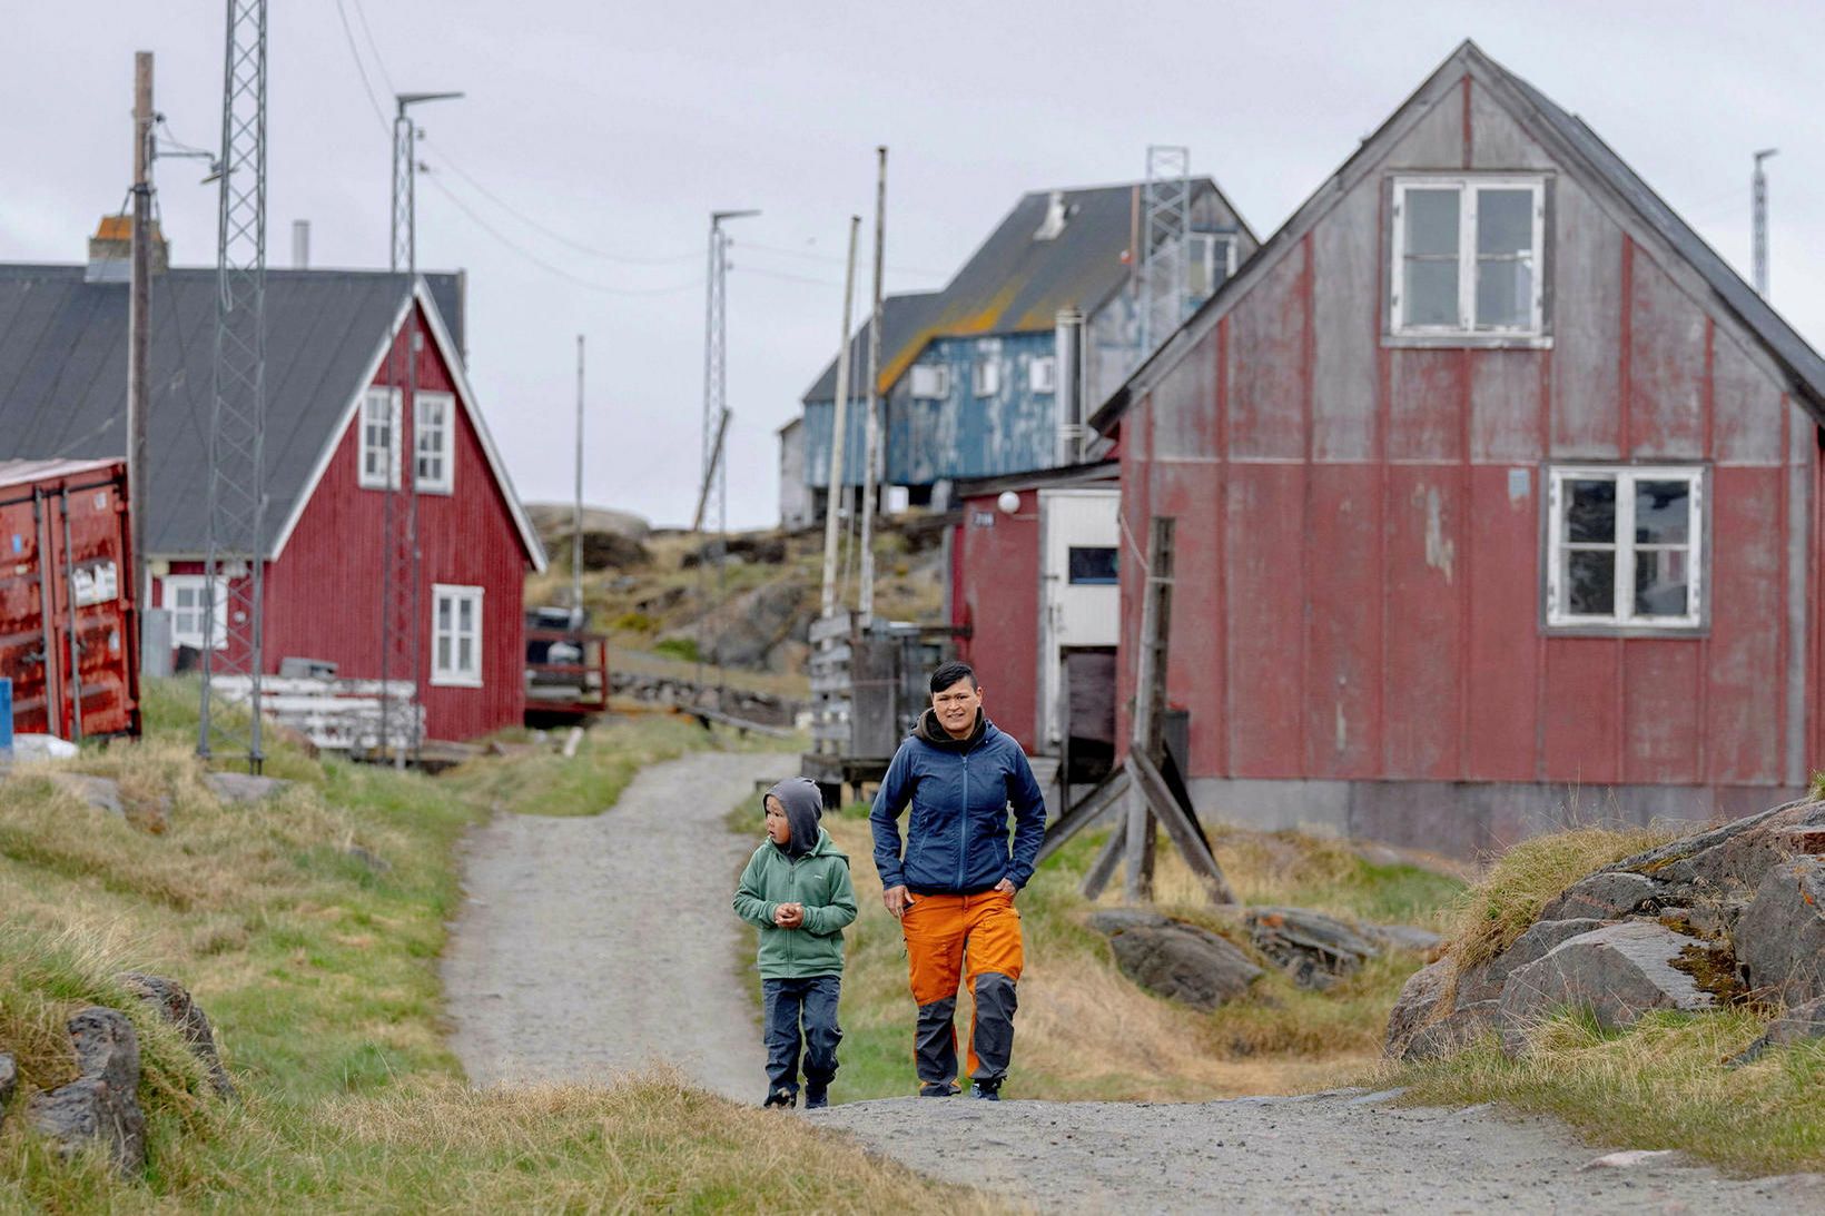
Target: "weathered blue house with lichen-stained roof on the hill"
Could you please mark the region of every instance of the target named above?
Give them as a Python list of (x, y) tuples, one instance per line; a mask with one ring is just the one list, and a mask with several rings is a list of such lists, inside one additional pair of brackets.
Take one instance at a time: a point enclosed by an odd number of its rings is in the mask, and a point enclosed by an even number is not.
[[(1188, 312), (1246, 261), (1256, 236), (1208, 177), (1190, 183), (1190, 232), (1179, 303)], [(1146, 354), (1135, 256), (1141, 184), (1037, 190), (934, 292), (889, 296), (881, 309), (880, 484), (914, 506), (947, 502), (969, 477), (1031, 473), (1075, 460), (1066, 435)], [(1181, 318), (1159, 327), (1157, 343)], [(869, 325), (850, 347), (843, 480), (860, 487), (867, 433)], [(1062, 362), (1060, 362), (1062, 360)], [(1066, 400), (1075, 398), (1075, 400)], [(836, 360), (803, 396), (803, 425), (785, 427), (783, 458), (803, 487), (781, 486), (792, 520), (829, 498)], [(1064, 435), (1062, 435), (1064, 433)]]

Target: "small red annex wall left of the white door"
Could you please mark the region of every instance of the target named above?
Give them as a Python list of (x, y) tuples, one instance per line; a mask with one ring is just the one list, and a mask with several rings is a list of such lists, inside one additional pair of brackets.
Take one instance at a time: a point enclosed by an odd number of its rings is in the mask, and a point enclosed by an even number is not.
[(958, 641), (958, 655), (976, 668), (984, 712), (1027, 749), (1038, 697), (1038, 557), (1037, 489), (1020, 491), (1013, 515), (995, 495), (964, 500), (951, 546), (951, 623), (973, 634)]

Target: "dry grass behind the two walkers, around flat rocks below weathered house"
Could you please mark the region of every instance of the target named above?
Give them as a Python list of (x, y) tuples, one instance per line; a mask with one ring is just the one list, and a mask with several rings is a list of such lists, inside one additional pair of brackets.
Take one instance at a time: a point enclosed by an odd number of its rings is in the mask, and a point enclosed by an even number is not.
[[(861, 906), (849, 929), (836, 1101), (907, 1094), (914, 1085), (905, 944), (880, 902), (863, 816), (863, 807), (850, 807), (825, 820), (850, 854)], [(757, 838), (750, 809), (737, 811), (732, 823)], [(1009, 1095), (1210, 1099), (1321, 1088), (1369, 1066), (1394, 995), (1420, 966), (1416, 955), (1378, 959), (1329, 993), (1299, 990), (1270, 970), (1246, 999), (1215, 1013), (1152, 997), (1115, 970), (1108, 942), (1082, 924), (1090, 906), (1077, 887), (1100, 844), (1097, 834), (1071, 842), (1020, 896), (1027, 970)], [(1451, 878), (1372, 865), (1341, 844), (1296, 833), (1223, 833), (1215, 847), (1252, 904), (1436, 924), (1460, 889)], [(1164, 911), (1234, 933), (1199, 906), (1192, 875), (1170, 849), (1161, 853), (1157, 893)]]

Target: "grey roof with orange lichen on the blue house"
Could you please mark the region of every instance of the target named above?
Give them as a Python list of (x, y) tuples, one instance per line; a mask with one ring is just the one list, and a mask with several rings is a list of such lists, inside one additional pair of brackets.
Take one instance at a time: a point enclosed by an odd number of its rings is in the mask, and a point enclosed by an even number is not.
[[(1033, 190), (1015, 203), (942, 290), (887, 299), (885, 305), (902, 301), (902, 310), (894, 314), (883, 305), (881, 393), (900, 380), (933, 338), (1049, 330), (1060, 309), (1086, 314), (1099, 309), (1128, 279), (1128, 245), (1141, 188), (1142, 183)], [(1037, 239), (1055, 194), (1066, 208), (1064, 228), (1049, 239)], [(1208, 177), (1194, 177), (1192, 194), (1194, 199), (1223, 197)], [(1236, 214), (1226, 199), (1223, 208)], [(1237, 225), (1246, 234), (1239, 217)], [(1252, 234), (1248, 237), (1254, 239)], [(861, 329), (865, 332), (867, 325)], [(867, 371), (856, 380), (858, 396), (865, 380)], [(805, 400), (836, 400), (836, 360), (805, 393)]]

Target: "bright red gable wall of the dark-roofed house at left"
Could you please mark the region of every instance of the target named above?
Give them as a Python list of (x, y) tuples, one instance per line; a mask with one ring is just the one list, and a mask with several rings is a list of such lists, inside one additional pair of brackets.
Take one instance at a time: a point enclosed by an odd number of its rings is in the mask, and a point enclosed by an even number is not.
[[(407, 341), (405, 336), (400, 340)], [(453, 393), (436, 345), (420, 351), (418, 387)], [(374, 378), (387, 385), (391, 360)], [(402, 424), (412, 433), (411, 409)], [(482, 440), (458, 409), (454, 493), (418, 495), (420, 674), (425, 732), (465, 739), (518, 725), (526, 710), (526, 551)], [(336, 440), (334, 455), (305, 506), (290, 544), (266, 568), (266, 666), (283, 657), (328, 659), (341, 676), (380, 676), (380, 537), (387, 497), (358, 484), (360, 413)], [(431, 685), (433, 584), (484, 588), (482, 687)], [(405, 677), (407, 674), (391, 674)]]

